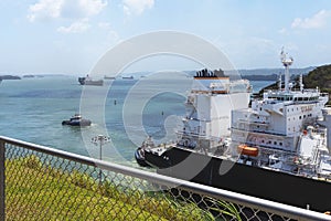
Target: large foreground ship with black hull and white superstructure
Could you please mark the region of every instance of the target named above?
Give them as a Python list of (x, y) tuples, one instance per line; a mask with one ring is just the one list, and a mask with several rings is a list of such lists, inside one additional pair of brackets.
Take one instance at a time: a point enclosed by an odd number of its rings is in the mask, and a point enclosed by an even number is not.
[[(246, 82), (194, 77), (183, 129), (167, 149), (145, 149), (158, 173), (295, 207), (331, 210), (329, 94), (290, 83), (292, 57), (281, 52), (285, 86), (249, 102)], [(224, 81), (220, 84), (220, 81)], [(223, 88), (221, 86), (223, 85)], [(246, 86), (244, 86), (246, 85)]]

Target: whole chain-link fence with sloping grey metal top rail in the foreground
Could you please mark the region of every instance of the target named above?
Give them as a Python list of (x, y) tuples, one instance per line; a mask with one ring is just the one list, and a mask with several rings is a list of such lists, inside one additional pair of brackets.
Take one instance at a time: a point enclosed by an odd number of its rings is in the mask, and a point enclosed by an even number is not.
[(331, 220), (331, 217), (0, 137), (0, 221), (3, 220)]

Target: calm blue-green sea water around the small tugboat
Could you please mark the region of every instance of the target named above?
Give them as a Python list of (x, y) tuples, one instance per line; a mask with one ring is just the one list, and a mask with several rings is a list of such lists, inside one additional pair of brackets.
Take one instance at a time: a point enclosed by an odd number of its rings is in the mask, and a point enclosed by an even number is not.
[[(271, 83), (252, 82), (255, 92)], [(185, 97), (166, 85), (185, 91), (185, 83), (179, 80), (146, 80), (143, 83), (116, 80), (106, 82), (103, 87), (89, 86), (90, 96), (82, 97), (84, 87), (74, 76), (2, 81), (0, 135), (98, 158), (99, 148), (89, 139), (105, 127), (111, 143), (104, 145), (103, 159), (136, 166), (134, 151), (145, 135), (163, 141), (173, 138), (174, 127), (181, 126), (178, 122), (185, 113)], [(100, 97), (105, 91), (106, 96)], [(92, 114), (84, 110), (93, 125), (62, 126), (62, 120), (79, 113), (82, 98), (92, 105), (94, 101), (103, 101), (90, 107)], [(103, 116), (102, 122), (99, 116)]]

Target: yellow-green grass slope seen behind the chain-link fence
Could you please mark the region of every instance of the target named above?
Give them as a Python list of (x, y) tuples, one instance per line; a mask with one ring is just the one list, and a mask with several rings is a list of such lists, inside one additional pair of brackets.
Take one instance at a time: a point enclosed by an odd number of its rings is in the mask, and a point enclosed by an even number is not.
[(145, 193), (77, 170), (42, 165), (35, 156), (6, 161), (7, 220), (210, 220), (194, 203)]

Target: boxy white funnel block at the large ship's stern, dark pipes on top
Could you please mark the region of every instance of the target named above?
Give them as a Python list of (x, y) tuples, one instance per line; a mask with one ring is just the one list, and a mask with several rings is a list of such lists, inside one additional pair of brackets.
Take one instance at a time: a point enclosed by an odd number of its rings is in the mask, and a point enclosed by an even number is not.
[(196, 73), (185, 103), (184, 127), (178, 145), (210, 149), (229, 136), (231, 110), (247, 107), (250, 86), (245, 80), (231, 81), (223, 71)]

